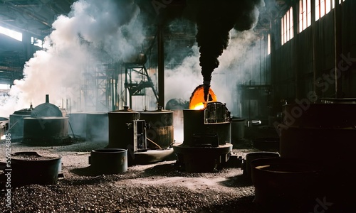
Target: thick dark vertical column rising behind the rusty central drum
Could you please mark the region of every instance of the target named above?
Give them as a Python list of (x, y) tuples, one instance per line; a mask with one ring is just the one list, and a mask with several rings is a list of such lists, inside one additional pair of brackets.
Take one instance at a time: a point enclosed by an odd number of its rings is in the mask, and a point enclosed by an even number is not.
[(164, 40), (163, 26), (158, 26), (157, 35), (158, 54), (158, 106), (164, 109)]

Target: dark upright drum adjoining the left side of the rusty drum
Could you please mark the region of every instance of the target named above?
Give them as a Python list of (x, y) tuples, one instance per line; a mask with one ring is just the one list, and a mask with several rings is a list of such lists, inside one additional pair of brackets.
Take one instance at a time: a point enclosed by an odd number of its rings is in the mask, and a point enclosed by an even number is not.
[[(132, 151), (133, 128), (132, 121), (140, 119), (140, 113), (128, 107), (110, 111), (109, 116), (109, 145), (108, 148), (124, 148)], [(132, 147), (130, 147), (132, 146)]]

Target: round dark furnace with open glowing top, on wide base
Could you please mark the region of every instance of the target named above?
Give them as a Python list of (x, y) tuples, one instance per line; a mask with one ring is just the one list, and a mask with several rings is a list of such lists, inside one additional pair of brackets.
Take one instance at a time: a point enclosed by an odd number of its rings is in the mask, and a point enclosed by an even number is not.
[[(201, 89), (198, 89), (201, 88)], [(203, 109), (184, 109), (184, 141), (174, 144), (177, 165), (189, 173), (209, 173), (221, 168), (229, 160), (231, 144), (231, 114), (226, 104), (221, 102), (201, 102), (192, 104), (202, 85), (194, 90), (189, 108), (194, 106)], [(209, 92), (211, 96), (214, 94)], [(204, 95), (198, 95), (204, 99)]]

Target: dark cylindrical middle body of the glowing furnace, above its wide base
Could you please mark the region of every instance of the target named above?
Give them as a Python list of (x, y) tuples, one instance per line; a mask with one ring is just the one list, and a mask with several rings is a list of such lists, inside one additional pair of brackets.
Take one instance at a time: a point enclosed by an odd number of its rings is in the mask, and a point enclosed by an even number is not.
[(204, 110), (184, 109), (183, 116), (185, 146), (205, 146), (198, 141), (216, 141), (216, 138), (211, 137), (217, 137), (217, 146), (231, 143), (231, 122), (204, 124)]

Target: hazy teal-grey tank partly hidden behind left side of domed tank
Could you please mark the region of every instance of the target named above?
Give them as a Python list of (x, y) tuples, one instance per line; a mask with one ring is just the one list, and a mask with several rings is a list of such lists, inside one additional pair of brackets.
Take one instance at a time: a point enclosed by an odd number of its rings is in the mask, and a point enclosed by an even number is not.
[(11, 133), (11, 140), (21, 140), (23, 138), (23, 118), (31, 116), (31, 109), (21, 109), (14, 111), (10, 115), (9, 131)]

